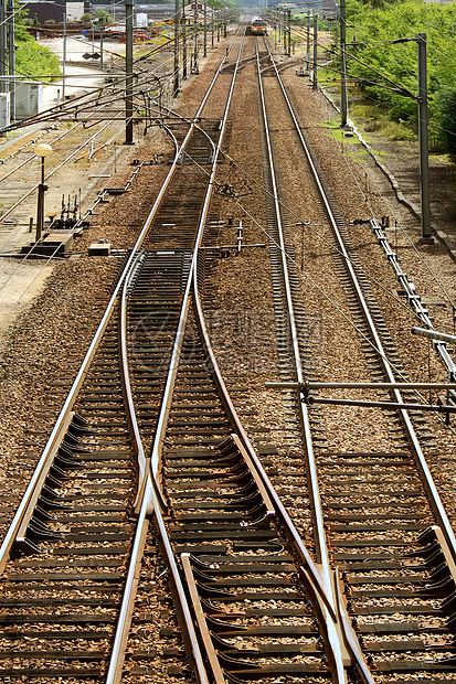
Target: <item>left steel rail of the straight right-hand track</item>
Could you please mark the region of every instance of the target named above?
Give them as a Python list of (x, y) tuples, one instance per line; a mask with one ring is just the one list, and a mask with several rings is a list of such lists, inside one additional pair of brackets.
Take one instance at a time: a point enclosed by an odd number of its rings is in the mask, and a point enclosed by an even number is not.
[[(266, 41), (264, 42), (266, 44)], [(264, 88), (263, 88), (262, 68), (261, 68), (261, 62), (259, 62), (259, 51), (258, 51), (258, 44), (257, 44), (256, 39), (255, 39), (255, 44), (256, 44), (256, 56), (257, 56), (256, 64), (257, 64), (261, 109), (262, 109), (262, 116), (263, 116), (263, 127), (264, 127), (264, 132), (265, 132), (265, 138), (266, 138), (266, 149), (267, 149), (267, 158), (268, 158), (267, 164), (268, 164), (268, 172), (269, 172), (271, 182), (272, 182), (272, 195), (274, 200), (274, 211), (275, 211), (274, 217), (277, 223), (278, 244), (279, 244), (280, 260), (282, 260), (282, 272), (283, 272), (284, 286), (285, 286), (286, 311), (287, 311), (287, 314), (289, 318), (289, 324), (290, 324), (291, 352), (293, 352), (293, 361), (295, 364), (294, 372), (295, 372), (297, 382), (303, 383), (304, 373), (303, 373), (303, 364), (300, 360), (299, 343), (298, 343), (298, 333), (297, 333), (296, 320), (295, 320), (295, 304), (294, 304), (293, 295), (291, 295), (291, 286), (290, 286), (288, 263), (287, 263), (287, 256), (286, 256), (284, 226), (283, 226), (283, 220), (282, 220), (280, 203), (279, 203), (279, 197), (278, 197), (278, 186), (277, 186), (277, 180), (276, 180), (272, 140), (271, 140), (269, 129), (268, 129), (266, 100), (265, 100), (265, 94), (264, 94)], [(271, 52), (269, 52), (269, 57), (272, 58)], [(277, 77), (279, 77), (278, 73), (277, 73)], [(317, 468), (316, 468), (316, 462), (315, 462), (314, 445), (312, 445), (312, 438), (311, 438), (311, 432), (310, 432), (310, 420), (309, 420), (307, 406), (306, 404), (304, 404), (304, 402), (299, 400), (299, 398), (298, 398), (298, 406), (299, 406), (300, 423), (301, 423), (303, 432), (304, 432), (303, 437), (304, 437), (304, 442), (305, 442), (306, 460), (307, 460), (307, 466), (308, 466), (307, 477), (309, 479), (309, 498), (311, 501), (311, 514), (312, 514), (312, 521), (314, 521), (314, 538), (316, 543), (317, 562), (321, 565), (322, 585), (325, 587), (325, 592), (326, 592), (326, 596), (328, 597), (328, 601), (331, 605), (332, 613), (333, 613), (336, 611), (336, 600), (335, 600), (332, 585), (331, 585), (331, 570), (330, 570), (330, 564), (329, 564), (329, 556), (328, 556), (328, 545), (327, 545), (327, 539), (326, 539), (325, 522), (324, 522), (324, 516), (322, 516), (320, 490), (319, 490), (318, 478), (317, 478)], [(328, 629), (328, 641), (329, 641), (330, 648), (332, 649), (332, 655), (333, 655), (333, 659), (331, 660), (335, 663), (335, 669), (333, 669), (333, 676), (336, 677), (335, 682), (342, 684), (347, 682), (347, 673), (346, 673), (346, 669), (343, 665), (342, 646), (340, 643), (339, 635), (337, 633), (336, 621), (333, 620), (331, 614), (327, 614), (327, 629)]]

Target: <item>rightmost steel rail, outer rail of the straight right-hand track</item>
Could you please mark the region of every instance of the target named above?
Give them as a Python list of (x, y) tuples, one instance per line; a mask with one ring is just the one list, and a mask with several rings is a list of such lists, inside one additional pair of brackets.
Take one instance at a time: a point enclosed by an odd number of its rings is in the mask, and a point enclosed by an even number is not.
[[(269, 54), (271, 54), (271, 52), (269, 52)], [(361, 307), (361, 311), (362, 311), (362, 314), (364, 317), (364, 320), (365, 320), (365, 322), (368, 324), (370, 334), (372, 336), (372, 343), (374, 345), (374, 349), (377, 350), (377, 353), (378, 353), (378, 356), (379, 356), (379, 361), (380, 361), (380, 363), (381, 363), (381, 365), (383, 367), (383, 372), (385, 373), (389, 382), (390, 383), (395, 383), (395, 375), (394, 375), (393, 368), (391, 367), (391, 364), (388, 361), (386, 353), (384, 351), (382, 341), (380, 339), (380, 335), (379, 335), (379, 332), (377, 330), (375, 323), (374, 323), (374, 321), (372, 319), (372, 316), (371, 316), (371, 313), (369, 311), (368, 303), (367, 303), (367, 301), (364, 299), (364, 296), (363, 296), (363, 292), (362, 292), (362, 288), (361, 288), (361, 286), (359, 284), (357, 274), (354, 272), (354, 268), (353, 268), (353, 266), (351, 264), (350, 257), (349, 257), (349, 255), (347, 253), (347, 249), (346, 249), (346, 246), (343, 244), (343, 239), (342, 239), (342, 236), (340, 234), (340, 231), (339, 231), (339, 227), (337, 225), (337, 221), (336, 221), (332, 207), (331, 207), (331, 202), (330, 202), (330, 200), (328, 199), (328, 196), (327, 196), (327, 194), (325, 192), (325, 189), (324, 189), (324, 185), (322, 185), (322, 181), (320, 179), (320, 175), (319, 175), (318, 169), (316, 167), (316, 163), (314, 161), (312, 154), (311, 154), (311, 152), (309, 150), (309, 147), (308, 147), (308, 145), (307, 145), (307, 142), (306, 142), (304, 136), (303, 136), (303, 132), (301, 132), (299, 122), (297, 120), (297, 117), (295, 115), (293, 105), (291, 105), (291, 103), (290, 103), (290, 100), (288, 98), (288, 95), (286, 93), (285, 86), (284, 86), (284, 84), (282, 82), (282, 78), (280, 78), (277, 70), (276, 70), (276, 74), (277, 74), (278, 83), (280, 84), (280, 88), (282, 88), (284, 98), (285, 98), (285, 100), (287, 103), (287, 106), (288, 106), (291, 119), (293, 119), (293, 121), (295, 124), (296, 133), (299, 137), (299, 141), (300, 141), (300, 143), (303, 146), (303, 150), (304, 150), (304, 152), (306, 154), (307, 162), (308, 162), (308, 164), (309, 164), (309, 167), (311, 169), (312, 177), (314, 177), (315, 183), (316, 183), (317, 189), (318, 189), (318, 193), (319, 193), (320, 199), (321, 199), (321, 201), (322, 201), (322, 203), (325, 205), (326, 213), (328, 215), (328, 218), (329, 218), (332, 232), (333, 232), (336, 241), (337, 241), (339, 254), (342, 256), (342, 258), (343, 258), (343, 260), (346, 263), (348, 275), (350, 277), (352, 287), (354, 289), (354, 292), (357, 295), (357, 298), (358, 298), (359, 304)], [(401, 392), (399, 389), (394, 389), (393, 388), (391, 392), (392, 392), (392, 395), (394, 396), (394, 399), (395, 399), (395, 402), (397, 404), (404, 404), (404, 400), (402, 398)], [(413, 456), (414, 456), (417, 469), (418, 469), (420, 474), (421, 474), (421, 479), (422, 479), (423, 485), (424, 485), (424, 488), (425, 488), (425, 490), (427, 492), (431, 507), (434, 511), (434, 515), (436, 517), (436, 522), (437, 522), (438, 526), (442, 528), (442, 531), (443, 531), (443, 533), (445, 535), (446, 542), (447, 542), (447, 544), (448, 544), (448, 546), (449, 546), (449, 548), (452, 551), (453, 557), (456, 560), (456, 538), (455, 538), (454, 532), (452, 530), (452, 525), (449, 523), (449, 520), (448, 520), (448, 516), (446, 514), (446, 511), (445, 511), (445, 509), (443, 506), (443, 503), (442, 503), (441, 496), (438, 494), (437, 488), (435, 487), (435, 483), (434, 483), (433, 477), (431, 474), (430, 468), (428, 468), (428, 466), (426, 463), (426, 459), (425, 459), (423, 450), (421, 448), (421, 445), (420, 445), (418, 438), (416, 436), (415, 429), (413, 427), (412, 420), (411, 420), (411, 418), (409, 416), (409, 413), (407, 413), (407, 410), (405, 408), (401, 408), (401, 409), (399, 409), (399, 412), (400, 412), (400, 415), (401, 415), (402, 424), (403, 424), (404, 430), (406, 432), (406, 436), (407, 436), (407, 439), (409, 439), (409, 443), (411, 446), (411, 449), (412, 449), (412, 452), (413, 452)]]

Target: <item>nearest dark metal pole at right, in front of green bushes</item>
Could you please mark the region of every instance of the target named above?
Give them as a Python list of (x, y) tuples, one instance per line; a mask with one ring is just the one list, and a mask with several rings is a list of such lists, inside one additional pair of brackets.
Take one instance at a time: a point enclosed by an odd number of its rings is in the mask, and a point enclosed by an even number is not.
[(427, 143), (427, 70), (426, 70), (426, 34), (416, 36), (418, 46), (418, 140), (420, 140), (420, 178), (421, 178), (421, 241), (434, 242), (431, 235), (430, 210), (430, 160)]

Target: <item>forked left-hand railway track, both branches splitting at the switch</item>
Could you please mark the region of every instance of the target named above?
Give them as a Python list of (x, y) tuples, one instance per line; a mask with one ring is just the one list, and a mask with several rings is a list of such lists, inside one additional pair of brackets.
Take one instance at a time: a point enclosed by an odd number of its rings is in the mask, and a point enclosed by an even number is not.
[[(280, 672), (329, 676), (332, 651), (328, 667), (320, 643), (326, 639), (325, 618), (319, 601), (311, 609), (303, 590), (308, 586), (311, 596), (325, 601), (318, 574), (278, 500), (271, 500), (216, 372), (198, 300), (198, 245), (234, 77), (222, 124), (202, 131), (204, 99), (195, 117), (199, 124), (190, 126), (177, 148), (168, 182), (127, 257), (125, 276), (3, 542), (4, 677), (120, 680), (149, 516), (173, 578), (185, 659), (200, 682), (209, 681), (208, 665), (219, 681), (225, 671), (226, 676), (250, 676), (253, 671), (268, 677)], [(183, 185), (188, 200), (178, 215)], [(276, 507), (288, 534), (278, 530)], [(294, 535), (291, 552), (288, 536)], [(178, 554), (181, 542), (190, 554)], [(282, 554), (285, 546), (288, 551)], [(202, 551), (203, 558), (195, 560)], [(222, 556), (224, 570), (205, 579), (215, 589), (205, 616), (200, 608), (208, 590), (197, 576), (208, 551)], [(300, 560), (291, 560), (291, 553)], [(201, 655), (184, 585), (209, 663)], [(218, 594), (218, 586), (226, 590)], [(226, 602), (237, 610), (226, 611)], [(208, 628), (214, 612), (223, 628), (215, 645)], [(284, 648), (272, 643), (272, 637), (284, 633), (276, 621), (284, 613), (298, 621), (295, 645), (285, 656)], [(248, 653), (231, 648), (225, 640), (233, 618), (234, 634), (242, 629), (241, 620), (255, 639), (267, 635), (267, 644)], [(298, 656), (299, 662), (290, 662)]]

